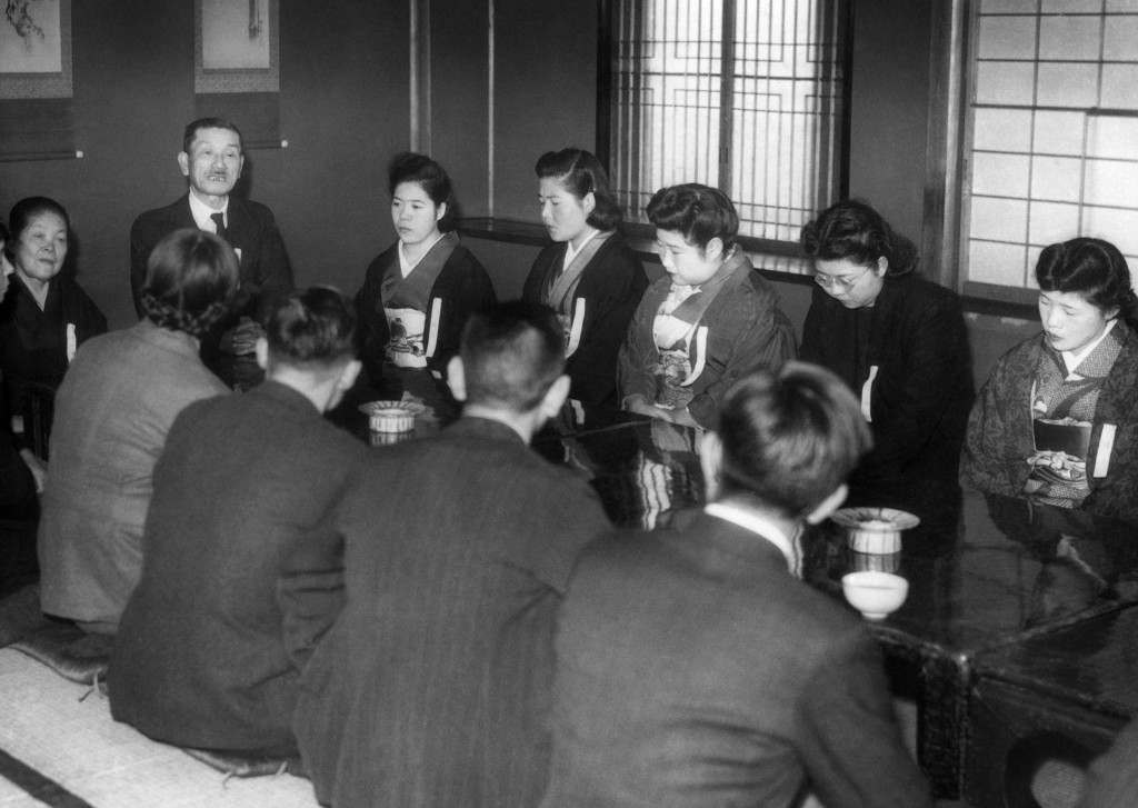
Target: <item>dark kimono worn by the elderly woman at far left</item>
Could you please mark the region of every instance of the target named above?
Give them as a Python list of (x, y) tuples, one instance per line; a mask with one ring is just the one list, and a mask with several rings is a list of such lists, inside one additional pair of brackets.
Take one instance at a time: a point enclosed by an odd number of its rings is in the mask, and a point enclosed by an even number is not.
[(23, 414), (28, 382), (58, 387), (71, 364), (69, 352), (107, 330), (102, 312), (69, 274), (51, 279), (42, 310), (19, 273), (10, 281), (0, 304), (6, 418)]

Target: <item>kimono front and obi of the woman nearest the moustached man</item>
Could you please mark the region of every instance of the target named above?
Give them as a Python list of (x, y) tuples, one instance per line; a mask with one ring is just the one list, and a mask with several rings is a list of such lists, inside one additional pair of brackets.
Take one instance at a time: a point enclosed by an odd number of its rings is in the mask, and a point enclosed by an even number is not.
[(397, 368), (426, 368), (427, 360), (435, 355), (443, 300), (431, 298), (431, 289), (457, 246), (459, 234), (446, 233), (406, 278), (399, 270), (398, 254), (384, 271), (379, 294), (390, 333), (385, 356)]

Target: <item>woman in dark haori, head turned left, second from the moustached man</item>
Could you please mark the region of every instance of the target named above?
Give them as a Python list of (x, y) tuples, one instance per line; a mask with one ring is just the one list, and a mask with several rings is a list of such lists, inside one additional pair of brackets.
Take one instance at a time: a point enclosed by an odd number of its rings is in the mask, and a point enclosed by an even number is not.
[(622, 213), (595, 156), (578, 148), (546, 151), (534, 172), (553, 244), (534, 261), (522, 299), (558, 313), (569, 397), (615, 409), (617, 354), (648, 277), (617, 230)]

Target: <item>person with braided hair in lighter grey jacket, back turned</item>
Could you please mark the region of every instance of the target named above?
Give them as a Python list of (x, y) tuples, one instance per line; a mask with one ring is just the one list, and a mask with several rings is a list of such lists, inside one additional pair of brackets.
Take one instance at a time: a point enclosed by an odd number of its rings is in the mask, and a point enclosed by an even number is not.
[(229, 388), (198, 357), (229, 313), (237, 255), (213, 233), (175, 230), (147, 262), (134, 325), (91, 339), (56, 396), (40, 523), (44, 613), (114, 634), (142, 564), (155, 463), (174, 418)]

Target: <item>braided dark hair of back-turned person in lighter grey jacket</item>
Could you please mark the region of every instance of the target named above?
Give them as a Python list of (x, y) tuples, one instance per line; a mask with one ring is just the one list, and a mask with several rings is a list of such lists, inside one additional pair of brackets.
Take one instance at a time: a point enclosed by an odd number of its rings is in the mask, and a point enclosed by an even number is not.
[(233, 248), (214, 233), (183, 228), (147, 258), (142, 311), (156, 325), (201, 337), (229, 313), (238, 283)]

